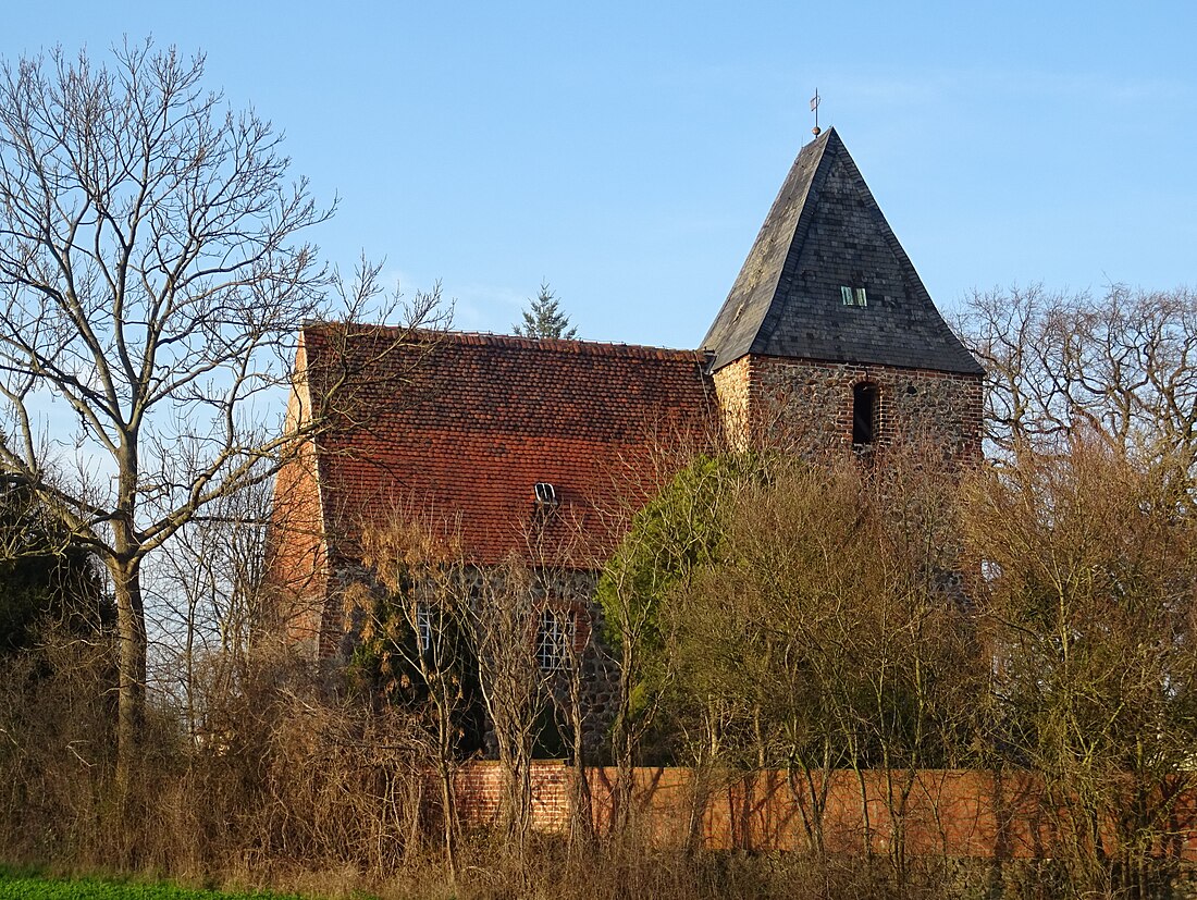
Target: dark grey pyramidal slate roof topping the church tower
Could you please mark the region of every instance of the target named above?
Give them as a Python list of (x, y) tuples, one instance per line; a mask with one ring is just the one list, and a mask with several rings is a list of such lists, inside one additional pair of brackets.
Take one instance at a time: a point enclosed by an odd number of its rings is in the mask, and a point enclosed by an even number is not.
[(703, 348), (716, 370), (752, 353), (982, 373), (834, 128), (795, 159)]

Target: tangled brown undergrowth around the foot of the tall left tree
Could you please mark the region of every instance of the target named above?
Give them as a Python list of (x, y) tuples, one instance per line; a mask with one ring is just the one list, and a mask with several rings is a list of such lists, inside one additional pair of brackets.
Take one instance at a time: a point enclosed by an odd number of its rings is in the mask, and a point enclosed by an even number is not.
[(47, 647), (0, 673), (4, 858), (381, 874), (424, 853), (442, 811), (424, 734), (399, 713), (322, 701), (281, 668), (213, 704), (200, 746), (172, 717), (151, 716), (145, 777), (116, 791), (113, 719), (97, 691), (111, 681), (111, 652)]

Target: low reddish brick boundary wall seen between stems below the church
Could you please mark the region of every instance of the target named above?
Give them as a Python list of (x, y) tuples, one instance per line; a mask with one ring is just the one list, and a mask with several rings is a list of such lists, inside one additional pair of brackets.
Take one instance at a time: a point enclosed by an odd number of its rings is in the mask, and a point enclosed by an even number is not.
[[(610, 819), (616, 770), (593, 767), (587, 774), (601, 832)], [(496, 823), (502, 777), (494, 762), (458, 770), (458, 810), (466, 825)], [(537, 831), (569, 831), (573, 777), (575, 770), (561, 762), (534, 764)], [(905, 785), (903, 804), (897, 798)], [(701, 803), (695, 802), (699, 790), (705, 795)], [(863, 853), (868, 844), (874, 852), (888, 852), (895, 819), (899, 839), (912, 855), (1041, 859), (1053, 856), (1058, 843), (1059, 817), (1045, 811), (1039, 782), (1026, 772), (920, 770), (911, 778), (906, 772), (837, 770), (826, 779), (814, 772), (808, 783), (804, 773), (791, 782), (779, 770), (698, 779), (688, 768), (637, 768), (633, 797), (638, 826), (660, 845), (682, 846), (693, 838), (709, 850), (771, 851), (812, 845), (812, 797), (824, 791), (824, 846), (831, 852)], [(892, 817), (891, 807), (904, 814)], [(1197, 861), (1197, 791), (1180, 793), (1172, 809), (1157, 852)]]

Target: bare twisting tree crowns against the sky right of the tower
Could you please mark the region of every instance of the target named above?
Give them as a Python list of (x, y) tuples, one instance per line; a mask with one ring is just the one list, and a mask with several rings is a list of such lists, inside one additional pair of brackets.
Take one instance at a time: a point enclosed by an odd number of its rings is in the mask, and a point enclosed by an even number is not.
[(1040, 286), (974, 294), (960, 321), (985, 365), (991, 445), (1067, 444), (1078, 430), (1112, 445), (1197, 458), (1197, 297), (1104, 297)]

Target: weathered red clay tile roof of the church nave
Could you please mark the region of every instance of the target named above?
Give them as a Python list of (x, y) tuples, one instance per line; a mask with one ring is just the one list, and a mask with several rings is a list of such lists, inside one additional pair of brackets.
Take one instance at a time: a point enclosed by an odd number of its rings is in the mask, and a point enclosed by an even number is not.
[[(316, 442), (342, 559), (364, 525), (423, 510), (452, 518), (478, 562), (535, 535), (529, 561), (591, 567), (621, 535), (618, 513), (672, 474), (663, 451), (699, 444), (717, 418), (697, 352), (397, 329), (346, 340), (342, 328), (303, 334), (317, 412), (340, 372), (366, 370), (346, 378), (353, 409), (332, 401), (339, 424)], [(557, 489), (552, 515), (536, 512), (536, 482)]]

